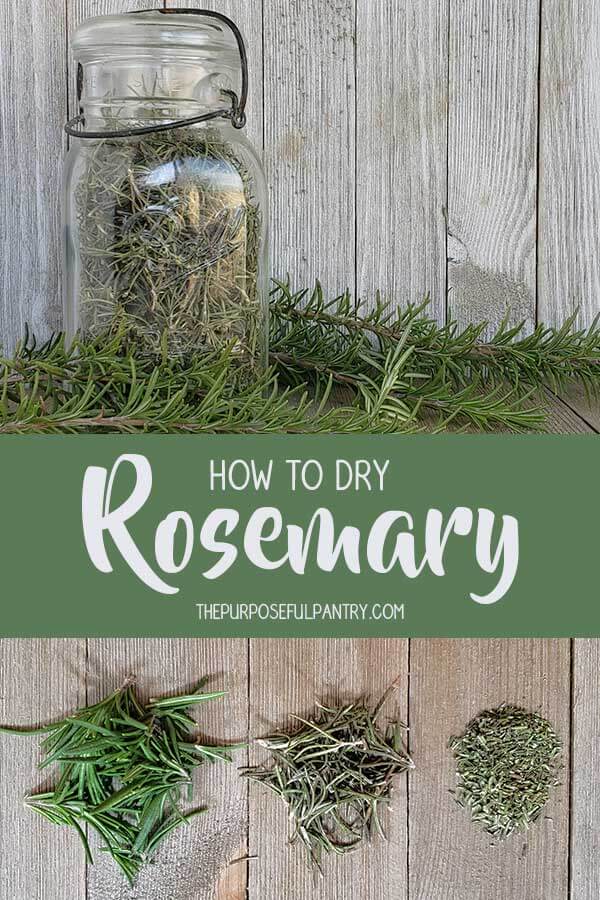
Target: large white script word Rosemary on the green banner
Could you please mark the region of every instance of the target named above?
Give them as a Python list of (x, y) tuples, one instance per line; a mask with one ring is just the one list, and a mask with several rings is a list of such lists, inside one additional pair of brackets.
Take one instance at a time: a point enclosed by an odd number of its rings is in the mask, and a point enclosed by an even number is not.
[[(133, 467), (133, 488), (124, 500), (113, 505), (117, 474), (125, 464)], [(413, 515), (397, 509), (384, 510), (357, 526), (336, 522), (333, 512), (325, 507), (309, 517), (303, 514), (302, 518), (307, 518), (304, 525), (286, 522), (285, 510), (277, 506), (259, 506), (246, 513), (244, 521), (238, 510), (218, 507), (203, 515), (197, 537), (190, 513), (175, 510), (153, 528), (151, 554), (144, 552), (140, 546), (143, 542), (134, 538), (133, 532), (140, 531), (141, 511), (150, 501), (152, 483), (152, 467), (141, 454), (119, 456), (110, 471), (89, 466), (83, 479), (82, 524), (87, 552), (96, 569), (113, 571), (106, 541), (110, 537), (112, 552), (117, 552), (147, 587), (162, 594), (178, 593), (179, 588), (171, 583), (173, 578), (167, 581), (165, 577), (182, 573), (195, 550), (202, 552), (202, 575), (209, 580), (221, 578), (240, 557), (263, 572), (287, 567), (295, 575), (304, 575), (307, 570), (345, 569), (357, 576), (364, 572), (392, 576), (401, 572), (415, 579), (427, 571), (443, 577), (447, 557), (459, 549), (454, 538), (469, 538), (479, 570), (495, 576), (488, 593), (469, 592), (469, 597), (481, 604), (502, 599), (517, 574), (518, 520), (466, 506), (445, 514), (439, 509), (427, 510), (423, 533), (418, 537)], [(120, 485), (119, 494), (122, 492)], [(210, 562), (208, 567), (204, 566), (205, 558)]]

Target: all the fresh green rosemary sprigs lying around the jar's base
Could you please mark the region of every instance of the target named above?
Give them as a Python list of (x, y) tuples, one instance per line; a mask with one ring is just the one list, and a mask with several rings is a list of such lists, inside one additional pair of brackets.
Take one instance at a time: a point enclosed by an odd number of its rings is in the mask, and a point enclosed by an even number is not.
[[(483, 340), (483, 325), (438, 326), (425, 305), (367, 311), (283, 284), (270, 310), (272, 367), (242, 384), (237, 338), (183, 359), (158, 341), (152, 357), (126, 317), (69, 347), (26, 339), (0, 359), (0, 434), (521, 432), (543, 428), (546, 386), (600, 385), (600, 328), (573, 318)], [(334, 387), (345, 399), (332, 406)]]

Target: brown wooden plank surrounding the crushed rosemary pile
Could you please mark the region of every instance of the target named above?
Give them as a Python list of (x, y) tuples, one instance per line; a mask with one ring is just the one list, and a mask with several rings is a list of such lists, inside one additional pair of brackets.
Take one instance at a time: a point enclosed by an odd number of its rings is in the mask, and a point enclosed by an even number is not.
[[(494, 841), (452, 799), (448, 739), (483, 709), (540, 710), (565, 743), (562, 786), (548, 818), (526, 835)], [(410, 780), (411, 900), (562, 900), (569, 844), (568, 640), (414, 640), (410, 723), (417, 771)]]

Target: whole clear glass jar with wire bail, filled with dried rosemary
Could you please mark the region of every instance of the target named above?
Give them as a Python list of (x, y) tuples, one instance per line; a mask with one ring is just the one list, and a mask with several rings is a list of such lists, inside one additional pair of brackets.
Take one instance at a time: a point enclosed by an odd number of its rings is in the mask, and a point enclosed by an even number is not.
[(266, 189), (243, 137), (246, 51), (218, 13), (100, 16), (75, 32), (65, 173), (68, 335), (148, 354), (267, 358)]

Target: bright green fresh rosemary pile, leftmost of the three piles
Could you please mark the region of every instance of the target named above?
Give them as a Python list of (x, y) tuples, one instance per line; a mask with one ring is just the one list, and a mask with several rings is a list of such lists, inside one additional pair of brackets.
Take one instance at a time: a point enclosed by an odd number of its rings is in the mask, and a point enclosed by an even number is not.
[(130, 680), (60, 722), (0, 728), (9, 734), (46, 733), (40, 768), (59, 767), (54, 789), (33, 794), (26, 805), (54, 825), (73, 828), (90, 863), (87, 832), (94, 830), (101, 849), (133, 883), (163, 840), (204, 812), (181, 809), (182, 793), (192, 797), (194, 769), (206, 762), (231, 762), (237, 749), (204, 746), (193, 737), (197, 726), (187, 710), (225, 694), (203, 693), (205, 682), (190, 694), (142, 703)]

